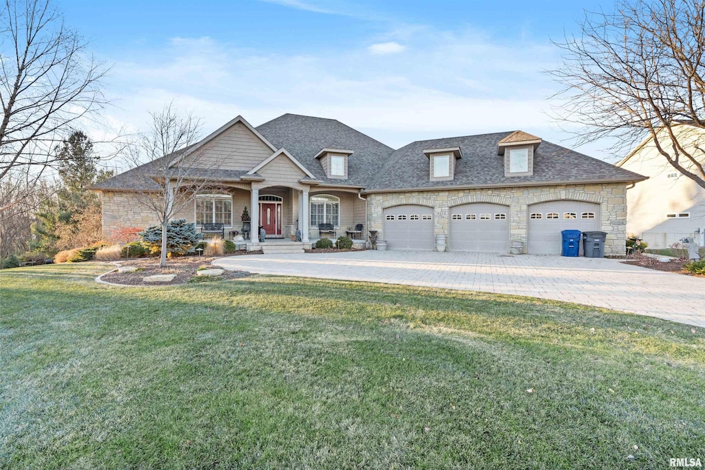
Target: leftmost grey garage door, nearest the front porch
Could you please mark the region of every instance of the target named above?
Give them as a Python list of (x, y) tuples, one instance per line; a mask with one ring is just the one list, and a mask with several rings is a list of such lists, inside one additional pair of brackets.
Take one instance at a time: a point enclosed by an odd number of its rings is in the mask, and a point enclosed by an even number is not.
[(383, 233), (387, 249), (434, 249), (434, 209), (394, 206), (384, 209)]

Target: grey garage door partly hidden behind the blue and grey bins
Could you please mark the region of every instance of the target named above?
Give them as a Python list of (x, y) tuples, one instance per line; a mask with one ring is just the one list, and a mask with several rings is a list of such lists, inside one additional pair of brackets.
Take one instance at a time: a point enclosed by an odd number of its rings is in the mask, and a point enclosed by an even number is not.
[[(529, 206), (529, 254), (560, 254), (561, 230), (600, 230), (600, 206), (592, 202), (551, 201)], [(582, 256), (582, 241), (580, 242)]]

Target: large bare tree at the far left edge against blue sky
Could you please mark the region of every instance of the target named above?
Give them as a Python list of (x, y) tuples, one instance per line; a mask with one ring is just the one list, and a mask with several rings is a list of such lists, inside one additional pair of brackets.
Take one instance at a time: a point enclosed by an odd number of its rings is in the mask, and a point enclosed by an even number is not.
[(0, 180), (23, 168), (38, 180), (55, 163), (54, 144), (102, 108), (106, 70), (50, 0), (4, 1), (0, 61)]

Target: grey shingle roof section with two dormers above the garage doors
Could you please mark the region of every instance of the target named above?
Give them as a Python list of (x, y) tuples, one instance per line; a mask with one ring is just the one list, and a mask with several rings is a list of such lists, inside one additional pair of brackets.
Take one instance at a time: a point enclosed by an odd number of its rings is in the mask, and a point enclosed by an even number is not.
[[(507, 178), (504, 175), (504, 157), (497, 155), (497, 144), (511, 133), (412, 142), (392, 154), (379, 175), (367, 185), (367, 190), (645, 179), (637, 173), (545, 140), (534, 152), (534, 174)], [(444, 147), (460, 147), (462, 150), (462, 159), (455, 164), (455, 176), (452, 181), (429, 181), (429, 159), (422, 150)]]

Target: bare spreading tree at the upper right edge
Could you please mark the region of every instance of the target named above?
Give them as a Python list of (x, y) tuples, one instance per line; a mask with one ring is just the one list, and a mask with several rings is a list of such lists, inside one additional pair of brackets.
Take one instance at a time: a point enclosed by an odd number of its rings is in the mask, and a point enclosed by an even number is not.
[(650, 137), (664, 163), (705, 188), (705, 0), (618, 0), (556, 43), (557, 108), (578, 143), (623, 152)]

